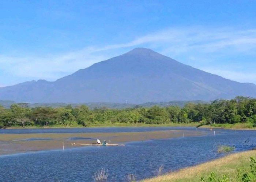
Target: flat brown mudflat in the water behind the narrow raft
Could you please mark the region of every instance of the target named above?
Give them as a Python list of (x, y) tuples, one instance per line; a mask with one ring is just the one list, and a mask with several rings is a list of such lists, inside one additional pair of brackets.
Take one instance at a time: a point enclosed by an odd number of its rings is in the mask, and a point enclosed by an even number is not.
[(84, 147), (71, 143), (93, 143), (97, 139), (110, 143), (146, 141), (187, 136), (200, 136), (202, 132), (188, 130), (109, 132), (109, 133), (44, 133), (44, 134), (0, 134), (0, 155), (26, 153), (42, 150)]

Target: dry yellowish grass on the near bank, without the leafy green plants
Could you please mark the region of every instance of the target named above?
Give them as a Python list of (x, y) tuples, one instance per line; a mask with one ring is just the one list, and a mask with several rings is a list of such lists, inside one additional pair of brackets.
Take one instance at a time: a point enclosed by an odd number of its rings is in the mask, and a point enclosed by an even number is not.
[(226, 157), (197, 166), (145, 179), (144, 182), (198, 182), (201, 180), (201, 177), (207, 179), (212, 172), (216, 174), (217, 178), (222, 178), (223, 175), (226, 175), (230, 181), (237, 181), (236, 174), (238, 169), (242, 169), (242, 172), (250, 169), (251, 156), (256, 157), (255, 150), (227, 155)]

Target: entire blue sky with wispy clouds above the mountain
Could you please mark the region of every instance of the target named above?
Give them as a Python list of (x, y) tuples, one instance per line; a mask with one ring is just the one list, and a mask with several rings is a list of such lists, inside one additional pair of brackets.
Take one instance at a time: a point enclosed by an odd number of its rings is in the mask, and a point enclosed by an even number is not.
[(151, 48), (256, 84), (255, 0), (0, 0), (0, 87)]

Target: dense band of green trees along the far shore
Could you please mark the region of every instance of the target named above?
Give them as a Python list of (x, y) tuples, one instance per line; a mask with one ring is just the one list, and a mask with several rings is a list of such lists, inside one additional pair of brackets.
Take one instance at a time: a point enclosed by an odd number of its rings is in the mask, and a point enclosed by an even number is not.
[(231, 100), (214, 100), (211, 103), (187, 103), (184, 107), (152, 106), (149, 108), (89, 109), (85, 105), (72, 107), (29, 107), (15, 103), (10, 108), (0, 106), (0, 127), (10, 126), (90, 126), (113, 123), (247, 123), (256, 126), (256, 99), (237, 96)]

